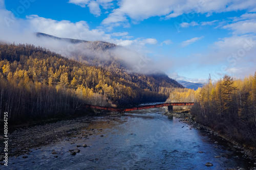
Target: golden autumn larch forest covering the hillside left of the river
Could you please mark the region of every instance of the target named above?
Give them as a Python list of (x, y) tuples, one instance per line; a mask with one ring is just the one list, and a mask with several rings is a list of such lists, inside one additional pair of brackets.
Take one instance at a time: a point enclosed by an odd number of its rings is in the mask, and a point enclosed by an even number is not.
[(182, 87), (164, 75), (128, 73), (112, 63), (93, 66), (30, 44), (1, 44), (0, 59), (0, 112), (7, 111), (10, 121), (73, 114), (84, 103), (165, 101)]

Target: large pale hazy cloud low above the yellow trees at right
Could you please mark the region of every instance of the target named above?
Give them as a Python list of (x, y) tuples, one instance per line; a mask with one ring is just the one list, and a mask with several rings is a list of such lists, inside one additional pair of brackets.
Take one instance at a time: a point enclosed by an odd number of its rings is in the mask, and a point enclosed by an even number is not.
[[(188, 77), (205, 78), (210, 73), (211, 78), (215, 80), (225, 74), (243, 78), (255, 72), (255, 54), (255, 34), (233, 35), (212, 43), (204, 50), (200, 50), (200, 54), (176, 58), (170, 72), (191, 70), (186, 72)], [(175, 78), (175, 75), (173, 77)]]

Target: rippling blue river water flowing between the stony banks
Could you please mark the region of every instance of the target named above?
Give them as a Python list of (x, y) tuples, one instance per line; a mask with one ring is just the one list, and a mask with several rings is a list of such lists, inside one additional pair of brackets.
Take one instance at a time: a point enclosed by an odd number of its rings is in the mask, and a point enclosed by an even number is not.
[[(89, 127), (57, 143), (32, 149), (27, 159), (10, 158), (12, 169), (226, 169), (248, 167), (240, 153), (230, 154), (221, 138), (168, 119), (164, 108), (120, 117), (95, 117)], [(87, 136), (88, 137), (85, 137)], [(218, 141), (218, 143), (216, 142)], [(70, 149), (79, 147), (71, 155)], [(223, 144), (224, 143), (224, 144)], [(52, 151), (57, 154), (53, 155)], [(226, 157), (215, 158), (225, 153)], [(55, 157), (56, 158), (55, 158)], [(210, 162), (213, 166), (206, 166)], [(1, 168), (1, 167), (0, 167)]]

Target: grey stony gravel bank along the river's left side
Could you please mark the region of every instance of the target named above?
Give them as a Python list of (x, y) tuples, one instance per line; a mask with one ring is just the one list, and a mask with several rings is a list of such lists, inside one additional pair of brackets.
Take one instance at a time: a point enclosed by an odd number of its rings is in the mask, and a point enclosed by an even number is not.
[[(80, 129), (87, 128), (92, 118), (97, 116), (113, 117), (111, 113), (94, 111), (88, 114), (43, 119), (17, 124), (10, 127), (8, 156), (29, 155), (31, 149), (44, 147), (77, 134)], [(91, 130), (90, 134), (94, 133)], [(0, 141), (4, 139), (0, 135)], [(3, 142), (0, 142), (0, 162), (4, 157)], [(1, 165), (1, 163), (0, 163)]]

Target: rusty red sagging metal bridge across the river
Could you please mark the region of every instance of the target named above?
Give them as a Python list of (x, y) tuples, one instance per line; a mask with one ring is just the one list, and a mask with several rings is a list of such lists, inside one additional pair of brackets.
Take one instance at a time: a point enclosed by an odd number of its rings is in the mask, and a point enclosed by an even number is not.
[(119, 113), (124, 113), (127, 111), (133, 111), (133, 110), (142, 110), (142, 109), (150, 109), (150, 108), (158, 108), (158, 107), (168, 107), (168, 112), (172, 113), (173, 112), (173, 106), (191, 106), (194, 105), (194, 103), (161, 103), (161, 104), (156, 104), (156, 105), (145, 105), (145, 106), (138, 106), (138, 107), (133, 107), (133, 108), (114, 108), (114, 107), (102, 107), (102, 106), (94, 106), (94, 105), (85, 105), (87, 108), (92, 108), (92, 109), (100, 109), (100, 110), (109, 110), (109, 111), (115, 111)]

